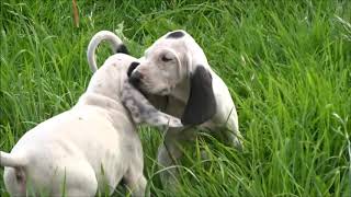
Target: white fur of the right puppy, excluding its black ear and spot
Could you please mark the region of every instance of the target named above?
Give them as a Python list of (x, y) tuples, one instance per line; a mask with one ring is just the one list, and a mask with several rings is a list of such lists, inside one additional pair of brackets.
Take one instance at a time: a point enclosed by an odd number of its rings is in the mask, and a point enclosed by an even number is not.
[[(145, 56), (140, 58), (140, 65), (133, 71), (143, 76), (140, 89), (152, 94), (169, 95), (165, 112), (181, 117), (189, 99), (190, 76), (196, 67), (204, 67), (212, 76), (217, 106), (215, 115), (200, 127), (208, 128), (212, 134), (222, 136), (227, 144), (241, 148), (237, 111), (227, 85), (211, 69), (204, 51), (194, 38), (185, 31), (177, 32), (182, 32), (184, 36), (168, 38), (172, 32), (167, 33), (146, 49)], [(163, 61), (162, 58), (168, 61)], [(220, 127), (226, 127), (229, 131), (220, 131)], [(177, 160), (182, 155), (179, 146), (184, 141), (191, 141), (196, 135), (195, 130), (183, 132), (177, 130), (179, 129), (173, 128), (167, 132), (165, 143), (159, 149), (158, 161), (166, 167), (173, 165), (173, 159)], [(163, 182), (169, 182), (172, 176), (166, 173), (162, 177)]]

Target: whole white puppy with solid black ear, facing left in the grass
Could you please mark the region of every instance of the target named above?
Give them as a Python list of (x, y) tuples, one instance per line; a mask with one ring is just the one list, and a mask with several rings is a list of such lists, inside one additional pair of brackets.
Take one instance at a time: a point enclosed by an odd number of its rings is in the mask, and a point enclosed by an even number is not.
[[(168, 96), (167, 114), (241, 148), (238, 116), (228, 88), (190, 34), (182, 30), (167, 33), (146, 49), (139, 61), (129, 76), (131, 82), (144, 93)], [(166, 167), (182, 155), (181, 144), (196, 135), (195, 130), (177, 130), (170, 129), (159, 148), (158, 161)], [(161, 175), (163, 183), (172, 177), (170, 171)]]

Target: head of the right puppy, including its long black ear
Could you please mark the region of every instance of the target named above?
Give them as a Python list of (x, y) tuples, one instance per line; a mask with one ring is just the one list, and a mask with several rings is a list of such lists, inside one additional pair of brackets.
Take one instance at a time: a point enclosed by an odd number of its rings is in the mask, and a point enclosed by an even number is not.
[(196, 42), (186, 32), (174, 31), (155, 42), (128, 77), (134, 86), (151, 94), (177, 96), (179, 91), (190, 89), (182, 123), (197, 125), (216, 112), (208, 69)]

